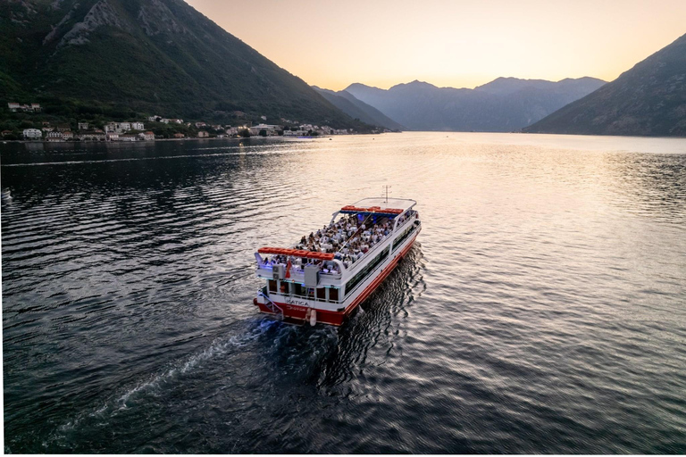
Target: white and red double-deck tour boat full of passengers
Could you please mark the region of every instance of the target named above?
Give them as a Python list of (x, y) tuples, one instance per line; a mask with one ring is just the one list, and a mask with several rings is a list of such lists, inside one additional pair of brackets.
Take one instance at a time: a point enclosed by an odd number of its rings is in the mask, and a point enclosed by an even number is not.
[(364, 198), (295, 245), (259, 248), (255, 271), (266, 284), (253, 303), (289, 323), (340, 326), (412, 248), (422, 230), (416, 204)]

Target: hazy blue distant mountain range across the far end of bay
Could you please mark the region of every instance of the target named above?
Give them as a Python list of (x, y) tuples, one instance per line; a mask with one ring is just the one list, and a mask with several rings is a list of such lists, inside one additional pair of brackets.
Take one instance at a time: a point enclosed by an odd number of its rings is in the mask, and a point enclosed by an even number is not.
[(514, 131), (605, 84), (595, 78), (498, 78), (473, 89), (413, 81), (389, 89), (351, 84), (345, 91), (413, 130)]

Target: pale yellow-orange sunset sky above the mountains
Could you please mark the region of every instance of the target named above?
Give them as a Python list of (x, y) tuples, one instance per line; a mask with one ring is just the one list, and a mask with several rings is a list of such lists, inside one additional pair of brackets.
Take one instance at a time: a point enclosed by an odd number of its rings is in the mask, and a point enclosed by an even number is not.
[(686, 33), (686, 0), (187, 0), (309, 84), (612, 80)]

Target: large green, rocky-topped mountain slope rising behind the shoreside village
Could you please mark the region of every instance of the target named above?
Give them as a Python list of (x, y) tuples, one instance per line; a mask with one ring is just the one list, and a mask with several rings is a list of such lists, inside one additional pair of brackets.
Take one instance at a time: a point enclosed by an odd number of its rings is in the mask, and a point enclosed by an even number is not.
[(1, 0), (0, 99), (79, 115), (362, 125), (182, 0)]

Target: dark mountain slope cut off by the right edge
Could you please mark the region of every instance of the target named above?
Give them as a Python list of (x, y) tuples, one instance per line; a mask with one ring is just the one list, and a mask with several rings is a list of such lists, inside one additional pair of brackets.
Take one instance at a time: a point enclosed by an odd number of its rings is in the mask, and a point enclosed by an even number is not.
[(524, 131), (686, 136), (686, 35)]

